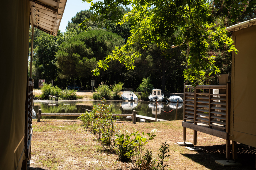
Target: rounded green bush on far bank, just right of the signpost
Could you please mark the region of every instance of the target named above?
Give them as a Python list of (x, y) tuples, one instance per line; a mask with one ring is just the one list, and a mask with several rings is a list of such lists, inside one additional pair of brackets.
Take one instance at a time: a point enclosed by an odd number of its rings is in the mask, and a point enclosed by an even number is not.
[(96, 92), (93, 94), (93, 99), (95, 100), (100, 100), (102, 98), (109, 100), (112, 98), (112, 90), (106, 84), (99, 84), (95, 91)]

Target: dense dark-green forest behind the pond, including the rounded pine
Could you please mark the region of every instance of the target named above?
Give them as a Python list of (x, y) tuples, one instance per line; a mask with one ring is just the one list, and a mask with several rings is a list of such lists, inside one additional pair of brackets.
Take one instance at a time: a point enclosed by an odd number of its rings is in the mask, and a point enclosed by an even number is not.
[[(232, 15), (224, 15), (225, 7), (219, 4), (221, 3), (209, 4), (213, 19), (221, 27), (230, 26)], [(250, 12), (243, 12), (232, 25), (255, 18), (255, 9), (254, 7)], [(118, 10), (124, 14), (130, 11), (129, 8), (123, 7), (118, 7)], [(138, 42), (134, 44), (134, 48), (137, 47), (142, 55), (135, 58), (134, 70), (127, 70), (124, 64), (112, 61), (107, 70), (102, 70), (99, 76), (93, 76), (91, 71), (98, 66), (97, 62), (111, 54), (116, 46), (120, 47), (126, 43), (131, 25), (112, 22), (110, 13), (109, 19), (102, 21), (102, 27), (99, 28), (98, 23), (90, 21), (86, 30), (80, 30), (79, 24), (90, 19), (92, 15), (93, 12), (89, 10), (76, 13), (71, 22), (68, 22), (67, 31), (62, 33), (59, 30), (56, 37), (39, 29), (34, 30), (32, 78), (35, 88), (38, 87), (38, 79), (45, 79), (47, 83), (53, 80), (54, 86), (62, 89), (69, 84), (73, 85), (75, 80), (76, 85), (82, 86), (84, 90), (90, 90), (90, 82), (95, 80), (96, 87), (101, 82), (109, 86), (123, 82), (124, 88), (137, 90), (143, 78), (147, 78), (151, 80), (154, 88), (162, 89), (163, 92), (183, 92), (183, 71), (187, 68), (187, 51), (182, 47), (170, 48), (169, 53), (172, 57), (168, 58), (162, 55), (156, 44), (150, 43), (147, 48), (140, 48)], [(174, 36), (178, 35), (179, 30), (174, 32)], [(220, 69), (220, 74), (231, 72), (231, 52), (227, 52), (227, 48), (208, 47), (209, 56), (216, 56), (215, 65)], [(29, 72), (30, 70), (28, 74)], [(199, 83), (217, 84), (216, 75), (206, 75)]]

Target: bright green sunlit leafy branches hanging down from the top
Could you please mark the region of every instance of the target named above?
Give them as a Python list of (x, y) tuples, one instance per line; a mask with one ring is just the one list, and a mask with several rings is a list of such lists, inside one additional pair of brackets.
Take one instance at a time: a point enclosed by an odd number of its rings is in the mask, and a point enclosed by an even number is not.
[[(215, 56), (207, 54), (208, 46), (215, 47), (227, 45), (228, 51), (236, 51), (232, 46), (233, 40), (227, 36), (224, 28), (218, 27), (214, 22), (212, 10), (207, 0), (83, 0), (91, 3), (90, 10), (94, 15), (90, 20), (98, 22), (109, 19), (118, 24), (129, 23), (131, 36), (121, 48), (116, 48), (113, 55), (108, 55), (104, 61), (99, 61), (98, 67), (107, 68), (110, 60), (117, 60), (125, 64), (129, 69), (134, 69), (135, 58), (140, 56), (138, 49), (132, 48), (136, 42), (141, 42), (140, 48), (145, 48), (149, 43), (155, 43), (162, 55), (170, 57), (168, 50), (174, 46), (180, 46), (187, 50), (189, 46), (188, 68), (184, 71), (185, 79), (192, 84), (205, 76), (205, 70), (211, 70), (210, 74), (218, 73), (219, 68), (214, 65)], [(117, 10), (119, 5), (132, 5), (133, 9), (127, 14)], [(89, 19), (80, 24), (80, 28), (86, 28)], [(178, 36), (175, 33), (180, 30)], [(94, 70), (99, 75), (98, 68)]]

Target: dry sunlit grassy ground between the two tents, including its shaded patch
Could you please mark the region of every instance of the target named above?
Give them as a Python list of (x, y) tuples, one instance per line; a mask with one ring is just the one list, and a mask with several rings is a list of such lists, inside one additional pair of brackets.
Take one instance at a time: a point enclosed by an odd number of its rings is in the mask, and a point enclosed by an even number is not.
[[(79, 120), (33, 119), (33, 139), (30, 170), (130, 170), (131, 163), (116, 161), (115, 152), (106, 152), (97, 138), (84, 129)], [(158, 129), (157, 136), (146, 145), (146, 149), (158, 154), (161, 143), (170, 145), (170, 157), (165, 160), (169, 170), (187, 169), (255, 169), (255, 149), (238, 144), (238, 162), (240, 167), (222, 167), (215, 160), (225, 160), (225, 140), (204, 133), (197, 133), (197, 144), (205, 149), (193, 152), (177, 146), (182, 141), (181, 120), (157, 123), (118, 122), (119, 127), (132, 132), (148, 133)], [(192, 142), (193, 131), (187, 129), (187, 140)]]

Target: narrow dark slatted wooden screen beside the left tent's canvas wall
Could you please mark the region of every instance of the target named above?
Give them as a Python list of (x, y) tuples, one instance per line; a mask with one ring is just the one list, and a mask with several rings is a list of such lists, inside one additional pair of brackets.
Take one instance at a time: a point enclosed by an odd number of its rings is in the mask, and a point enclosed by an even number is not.
[(25, 111), (25, 155), (30, 158), (32, 139), (33, 79), (27, 78), (26, 111)]

